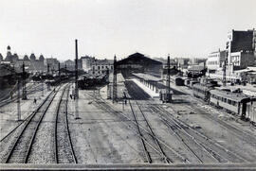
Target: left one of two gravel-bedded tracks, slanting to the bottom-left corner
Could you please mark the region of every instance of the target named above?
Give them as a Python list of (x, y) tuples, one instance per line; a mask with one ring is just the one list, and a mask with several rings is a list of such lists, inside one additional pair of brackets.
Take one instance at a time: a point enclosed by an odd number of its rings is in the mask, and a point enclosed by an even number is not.
[(14, 143), (9, 145), (9, 152), (2, 162), (27, 163), (37, 130), (57, 92), (51, 92), (41, 106), (28, 118)]

